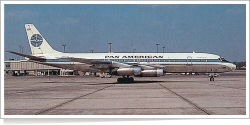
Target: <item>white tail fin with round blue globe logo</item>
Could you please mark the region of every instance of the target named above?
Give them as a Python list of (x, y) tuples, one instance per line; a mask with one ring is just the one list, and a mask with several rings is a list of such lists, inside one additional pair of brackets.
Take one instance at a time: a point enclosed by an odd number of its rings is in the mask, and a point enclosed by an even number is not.
[(44, 39), (42, 34), (36, 29), (33, 24), (25, 24), (26, 33), (28, 36), (32, 55), (46, 53), (60, 53), (54, 50), (49, 43)]

